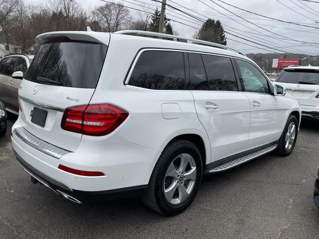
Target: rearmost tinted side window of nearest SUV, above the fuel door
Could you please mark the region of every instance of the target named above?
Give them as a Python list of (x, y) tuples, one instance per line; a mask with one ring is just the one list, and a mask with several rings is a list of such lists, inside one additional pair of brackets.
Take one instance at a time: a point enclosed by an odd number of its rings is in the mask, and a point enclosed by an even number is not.
[(129, 84), (153, 90), (185, 90), (183, 53), (144, 51), (135, 65)]

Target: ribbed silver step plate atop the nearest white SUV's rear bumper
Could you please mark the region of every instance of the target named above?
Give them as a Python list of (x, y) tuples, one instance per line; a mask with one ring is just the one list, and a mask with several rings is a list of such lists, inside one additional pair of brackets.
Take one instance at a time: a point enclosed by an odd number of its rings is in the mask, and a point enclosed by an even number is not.
[(53, 144), (50, 144), (48, 142), (45, 142), (42, 139), (39, 139), (38, 137), (31, 134), (23, 127), (15, 128), (13, 130), (13, 132), (23, 142), (27, 143), (31, 147), (33, 147), (33, 148), (41, 151), (42, 153), (45, 153), (45, 154), (51, 156), (51, 157), (59, 159), (63, 155), (71, 152), (71, 151), (68, 151), (66, 149), (59, 148), (59, 147), (57, 147)]

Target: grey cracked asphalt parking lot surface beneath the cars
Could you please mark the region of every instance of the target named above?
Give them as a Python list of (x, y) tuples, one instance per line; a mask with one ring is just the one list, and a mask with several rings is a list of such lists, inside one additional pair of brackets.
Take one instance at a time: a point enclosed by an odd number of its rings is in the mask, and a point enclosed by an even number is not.
[[(9, 116), (8, 128), (15, 119)], [(318, 146), (319, 122), (304, 119), (290, 156), (269, 154), (205, 176), (193, 204), (168, 218), (138, 198), (78, 205), (31, 184), (7, 132), (0, 138), (0, 239), (318, 239)]]

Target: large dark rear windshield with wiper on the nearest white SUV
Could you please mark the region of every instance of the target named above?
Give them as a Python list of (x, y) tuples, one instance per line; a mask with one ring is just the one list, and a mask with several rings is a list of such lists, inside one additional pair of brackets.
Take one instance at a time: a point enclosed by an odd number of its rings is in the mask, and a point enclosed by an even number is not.
[(44, 43), (24, 78), (46, 85), (96, 88), (106, 51), (106, 45), (95, 42)]

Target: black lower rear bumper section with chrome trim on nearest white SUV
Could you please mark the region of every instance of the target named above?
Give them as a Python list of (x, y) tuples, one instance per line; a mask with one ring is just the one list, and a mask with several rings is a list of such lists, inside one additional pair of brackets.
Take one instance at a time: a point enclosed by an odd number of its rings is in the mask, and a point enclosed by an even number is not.
[(69, 188), (64, 183), (57, 181), (49, 177), (48, 175), (40, 172), (36, 168), (25, 162), (15, 151), (13, 151), (16, 157), (16, 162), (31, 176), (31, 181), (33, 183), (41, 183), (42, 185), (48, 187), (55, 193), (73, 201), (75, 203), (82, 204), (84, 202), (91, 201), (108, 201), (120, 198), (137, 197), (140, 196), (146, 189), (148, 185), (140, 185), (128, 188), (121, 188), (115, 190), (106, 191), (80, 191)]

